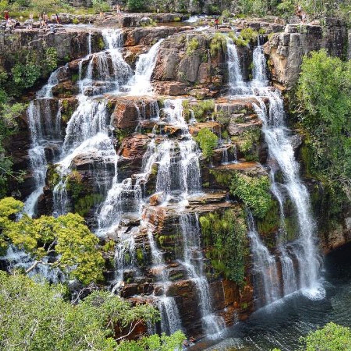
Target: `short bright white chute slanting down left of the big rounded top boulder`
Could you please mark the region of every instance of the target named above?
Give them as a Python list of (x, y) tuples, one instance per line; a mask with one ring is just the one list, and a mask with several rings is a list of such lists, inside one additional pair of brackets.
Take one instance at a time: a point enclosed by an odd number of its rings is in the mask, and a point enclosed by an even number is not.
[(130, 86), (129, 95), (146, 95), (152, 92), (150, 79), (156, 65), (156, 58), (162, 41), (163, 39), (160, 39), (147, 53), (139, 56), (135, 67), (135, 74), (128, 83)]

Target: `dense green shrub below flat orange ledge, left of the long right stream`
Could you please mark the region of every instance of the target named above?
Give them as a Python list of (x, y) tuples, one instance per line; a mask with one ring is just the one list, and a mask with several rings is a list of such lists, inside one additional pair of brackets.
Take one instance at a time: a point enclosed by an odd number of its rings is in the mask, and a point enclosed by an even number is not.
[(268, 176), (250, 177), (236, 172), (231, 177), (230, 193), (243, 201), (258, 218), (264, 218), (272, 205)]

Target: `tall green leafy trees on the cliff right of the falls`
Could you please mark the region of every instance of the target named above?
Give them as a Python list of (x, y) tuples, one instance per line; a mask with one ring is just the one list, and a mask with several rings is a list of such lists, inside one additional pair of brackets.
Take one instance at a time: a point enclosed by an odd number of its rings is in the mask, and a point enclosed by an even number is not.
[(306, 172), (340, 211), (351, 201), (351, 61), (320, 50), (305, 56), (301, 69), (296, 110)]

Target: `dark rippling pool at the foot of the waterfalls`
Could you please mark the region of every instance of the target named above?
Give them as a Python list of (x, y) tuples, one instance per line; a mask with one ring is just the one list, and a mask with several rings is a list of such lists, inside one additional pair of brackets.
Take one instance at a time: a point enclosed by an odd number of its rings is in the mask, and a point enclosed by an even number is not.
[(328, 322), (351, 326), (351, 245), (325, 258), (325, 298), (312, 300), (295, 293), (237, 323), (216, 343), (204, 340), (192, 351), (295, 351), (299, 338)]

